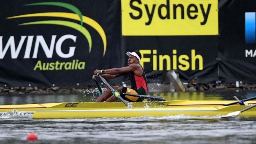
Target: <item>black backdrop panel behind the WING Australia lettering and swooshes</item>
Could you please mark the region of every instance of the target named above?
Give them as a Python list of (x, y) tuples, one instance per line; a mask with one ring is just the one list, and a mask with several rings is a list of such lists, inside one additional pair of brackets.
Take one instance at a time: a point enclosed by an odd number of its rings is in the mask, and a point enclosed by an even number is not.
[[(39, 2), (52, 2), (52, 1), (39, 1), (39, 0), (27, 0), (27, 1), (16, 1), (16, 0), (6, 0), (2, 1), (0, 9), (2, 14), (0, 15), (0, 36), (2, 36), (2, 41), (0, 46), (2, 47), (2, 52), (7, 44), (7, 41), (11, 36), (14, 37), (15, 48), (18, 49), (18, 45), (21, 36), (27, 36), (21, 46), (20, 52), (17, 58), (11, 57), (11, 48), (6, 51), (4, 57), (0, 59), (0, 83), (1, 86), (6, 84), (7, 86), (66, 86), (66, 85), (77, 85), (77, 84), (91, 84), (92, 74), (95, 69), (107, 69), (112, 67), (121, 67), (121, 31), (120, 31), (120, 19), (121, 10), (119, 0), (85, 0), (85, 1), (72, 1), (63, 0), (59, 1), (66, 4), (71, 4), (76, 7), (83, 16), (90, 19), (85, 19), (82, 26), (78, 26), (78, 30), (75, 28), (56, 25), (56, 24), (34, 24), (34, 25), (19, 25), (22, 23), (34, 22), (34, 21), (68, 21), (81, 25), (80, 21), (73, 20), (70, 18), (61, 17), (25, 17), (25, 18), (13, 18), (7, 19), (8, 17), (24, 15), (24, 14), (34, 14), (43, 12), (66, 12), (75, 13), (74, 11), (56, 5), (31, 5), (25, 6), (25, 4), (34, 4)], [(65, 16), (65, 14), (63, 14)], [(94, 21), (92, 27), (89, 23)], [(103, 56), (104, 45), (103, 38), (97, 30), (100, 30), (99, 26), (103, 29), (106, 36), (106, 53)], [(89, 42), (87, 38), (81, 31), (82, 27), (87, 29), (91, 35), (92, 47), (91, 52), (89, 52)], [(76, 36), (76, 41), (72, 39), (66, 39), (61, 44), (61, 51), (67, 54), (70, 47), (76, 47), (74, 55), (68, 58), (60, 57), (56, 52), (57, 41), (60, 37), (65, 35)], [(29, 58), (24, 58), (26, 47), (28, 43), (28, 36), (34, 36), (31, 46), (31, 51)], [(51, 58), (47, 58), (42, 45), (39, 44), (37, 58), (32, 58), (35, 51), (36, 38), (42, 36), (45, 40), (48, 50), (51, 45), (52, 36), (56, 36), (56, 40), (53, 47), (53, 53)], [(29, 46), (28, 46), (29, 47)], [(1, 53), (3, 56), (3, 53)], [(12, 52), (14, 54), (14, 52)], [(53, 70), (40, 70), (36, 67), (38, 61), (41, 63), (56, 63), (59, 62), (69, 62), (66, 66), (68, 69), (65, 70), (64, 66), (60, 70), (59, 68), (54, 68)], [(75, 60), (75, 65), (72, 67)], [(81, 63), (80, 67), (82, 69), (76, 68), (76, 61), (84, 62), (85, 66)], [(56, 64), (55, 64), (56, 66)], [(77, 66), (78, 67), (78, 66)], [(73, 68), (73, 69), (72, 69)], [(119, 80), (120, 82), (120, 80)]]

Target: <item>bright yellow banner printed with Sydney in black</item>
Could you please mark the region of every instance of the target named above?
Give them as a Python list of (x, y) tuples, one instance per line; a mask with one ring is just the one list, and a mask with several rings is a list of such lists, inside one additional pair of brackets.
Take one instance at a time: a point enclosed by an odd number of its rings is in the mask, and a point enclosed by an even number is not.
[(123, 36), (218, 35), (218, 0), (121, 0)]

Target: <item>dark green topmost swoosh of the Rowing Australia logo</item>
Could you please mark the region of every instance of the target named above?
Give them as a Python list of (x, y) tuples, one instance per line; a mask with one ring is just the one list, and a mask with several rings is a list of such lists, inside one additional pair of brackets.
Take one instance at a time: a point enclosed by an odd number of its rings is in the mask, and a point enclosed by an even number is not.
[(61, 3), (61, 2), (43, 2), (43, 3), (25, 4), (24, 6), (31, 6), (31, 5), (54, 5), (54, 6), (60, 6), (60, 7), (67, 8), (67, 9), (75, 12), (76, 14), (78, 14), (78, 16), (80, 18), (81, 26), (83, 26), (82, 13), (81, 13), (81, 11), (77, 7), (75, 7), (72, 4)]

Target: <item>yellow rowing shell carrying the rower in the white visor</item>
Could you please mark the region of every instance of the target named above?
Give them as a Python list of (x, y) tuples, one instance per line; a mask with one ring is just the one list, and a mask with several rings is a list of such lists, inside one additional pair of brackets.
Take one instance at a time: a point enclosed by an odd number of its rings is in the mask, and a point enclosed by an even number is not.
[[(131, 102), (133, 108), (170, 108), (170, 107), (197, 107), (220, 106), (235, 102), (235, 100), (170, 100), (156, 102)], [(248, 104), (256, 104), (255, 100), (247, 101)], [(127, 108), (123, 102), (63, 102), (43, 104), (1, 105), (0, 112), (8, 112), (16, 109), (24, 112), (38, 110), (91, 110), (91, 109), (122, 109)]]

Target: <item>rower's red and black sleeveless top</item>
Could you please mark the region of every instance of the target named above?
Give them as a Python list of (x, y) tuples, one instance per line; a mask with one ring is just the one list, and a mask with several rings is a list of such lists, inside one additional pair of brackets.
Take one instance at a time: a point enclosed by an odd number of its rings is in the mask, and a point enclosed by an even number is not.
[[(141, 68), (142, 68), (142, 66), (141, 66)], [(138, 91), (138, 90), (142, 91), (142, 93), (140, 93), (140, 94), (145, 94), (145, 92), (146, 93), (148, 92), (148, 82), (147, 82), (147, 77), (146, 77), (146, 74), (145, 74), (143, 68), (142, 68), (142, 71), (143, 71), (142, 76), (137, 76), (133, 72), (130, 72), (129, 78), (131, 80), (131, 88), (135, 91)]]

